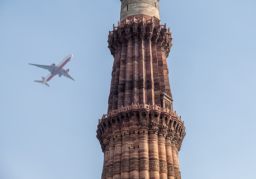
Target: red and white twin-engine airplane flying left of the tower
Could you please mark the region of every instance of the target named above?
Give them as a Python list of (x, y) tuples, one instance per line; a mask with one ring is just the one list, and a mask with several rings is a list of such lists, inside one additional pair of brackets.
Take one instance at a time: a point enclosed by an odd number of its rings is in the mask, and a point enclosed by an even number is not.
[(67, 77), (67, 78), (72, 79), (73, 81), (75, 81), (75, 79), (72, 78), (68, 74), (69, 69), (66, 69), (66, 70), (63, 69), (63, 67), (71, 60), (72, 57), (73, 57), (72, 54), (68, 55), (57, 66), (54, 63), (52, 63), (52, 65), (50, 65), (50, 66), (49, 65), (37, 65), (37, 64), (28, 63), (29, 65), (34, 65), (34, 66), (37, 66), (39, 68), (46, 69), (46, 70), (50, 71), (50, 74), (46, 78), (42, 77), (42, 81), (41, 80), (35, 80), (34, 82), (42, 83), (42, 85), (46, 85), (46, 86), (50, 87), (50, 85), (47, 82), (50, 81), (57, 74), (59, 75), (59, 77), (64, 76), (64, 77)]

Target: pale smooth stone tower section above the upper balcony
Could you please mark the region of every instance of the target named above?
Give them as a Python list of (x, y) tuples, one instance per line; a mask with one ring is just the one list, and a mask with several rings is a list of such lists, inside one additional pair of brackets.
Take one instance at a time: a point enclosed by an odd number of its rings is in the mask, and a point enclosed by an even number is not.
[(151, 19), (151, 17), (156, 17), (160, 20), (159, 11), (159, 0), (120, 0), (121, 13), (120, 13), (120, 23), (127, 18), (132, 19), (135, 16), (136, 19), (140, 19), (142, 16), (146, 19)]

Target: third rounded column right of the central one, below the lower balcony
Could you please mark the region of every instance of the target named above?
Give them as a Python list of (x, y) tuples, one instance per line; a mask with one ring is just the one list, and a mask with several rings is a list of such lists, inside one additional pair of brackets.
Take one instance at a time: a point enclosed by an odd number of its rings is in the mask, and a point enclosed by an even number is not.
[(172, 156), (172, 141), (170, 137), (165, 139), (165, 150), (166, 150), (166, 162), (167, 162), (167, 171), (168, 179), (174, 179), (174, 166), (173, 166), (173, 156)]

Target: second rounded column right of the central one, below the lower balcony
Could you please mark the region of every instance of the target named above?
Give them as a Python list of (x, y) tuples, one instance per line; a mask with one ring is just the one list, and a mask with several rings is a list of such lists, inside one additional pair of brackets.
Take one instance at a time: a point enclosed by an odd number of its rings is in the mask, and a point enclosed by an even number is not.
[(163, 133), (159, 133), (159, 135), (158, 135), (158, 152), (159, 152), (160, 178), (168, 179), (166, 149), (165, 149), (165, 134), (163, 134)]

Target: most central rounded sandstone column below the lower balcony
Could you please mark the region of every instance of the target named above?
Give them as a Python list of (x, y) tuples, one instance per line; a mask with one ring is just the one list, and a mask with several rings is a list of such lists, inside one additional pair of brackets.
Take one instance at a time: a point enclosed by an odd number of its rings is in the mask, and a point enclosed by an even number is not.
[(141, 129), (139, 131), (139, 179), (149, 179), (149, 156), (148, 156), (148, 130)]

